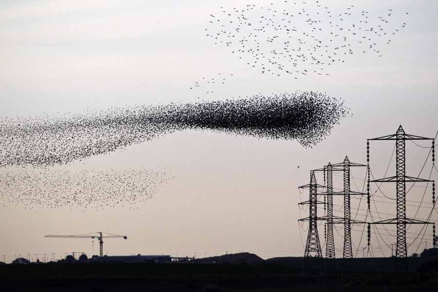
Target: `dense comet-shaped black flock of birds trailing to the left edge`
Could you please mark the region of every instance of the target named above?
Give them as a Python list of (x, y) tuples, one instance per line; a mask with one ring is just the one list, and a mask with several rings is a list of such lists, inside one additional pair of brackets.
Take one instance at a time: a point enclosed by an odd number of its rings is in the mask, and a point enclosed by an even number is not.
[(346, 116), (317, 92), (111, 108), (84, 114), (0, 119), (0, 166), (50, 166), (110, 153), (187, 129), (320, 142)]

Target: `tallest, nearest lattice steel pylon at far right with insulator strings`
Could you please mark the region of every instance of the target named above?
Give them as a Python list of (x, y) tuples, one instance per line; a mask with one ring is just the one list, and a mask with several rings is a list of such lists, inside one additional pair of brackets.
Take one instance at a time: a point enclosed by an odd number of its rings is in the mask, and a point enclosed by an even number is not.
[[(407, 224), (434, 224), (429, 221), (417, 220), (415, 218), (406, 217), (406, 182), (433, 182), (433, 203), (435, 205), (435, 182), (429, 179), (422, 179), (418, 177), (412, 177), (406, 175), (405, 165), (405, 141), (406, 140), (432, 140), (432, 159), (435, 161), (435, 149), (434, 139), (420, 137), (415, 135), (408, 135), (404, 133), (402, 125), (400, 125), (396, 134), (368, 139), (366, 142), (367, 160), (369, 164), (369, 141), (371, 140), (395, 140), (396, 141), (396, 175), (385, 177), (381, 179), (371, 180), (370, 182), (395, 182), (396, 194), (397, 194), (397, 217), (393, 219), (382, 220), (378, 222), (372, 222), (371, 224), (396, 224), (397, 225), (397, 247), (396, 247), (396, 266), (397, 272), (407, 271), (407, 247), (406, 247), (406, 225)], [(435, 233), (435, 228), (434, 228)], [(435, 238), (435, 234), (434, 234)], [(435, 240), (434, 240), (435, 246)]]

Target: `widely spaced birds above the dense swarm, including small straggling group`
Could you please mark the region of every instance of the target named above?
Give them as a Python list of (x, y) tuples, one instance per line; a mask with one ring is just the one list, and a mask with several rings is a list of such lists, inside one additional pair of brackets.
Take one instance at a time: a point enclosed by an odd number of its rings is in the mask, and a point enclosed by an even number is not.
[[(401, 32), (407, 22), (403, 18), (409, 14), (387, 9), (373, 15), (354, 5), (337, 10), (321, 2), (220, 7), (210, 15), (205, 35), (258, 72), (294, 80), (310, 74), (328, 76), (331, 65), (353, 54), (383, 57), (380, 48)], [(202, 81), (191, 88), (205, 84)], [(205, 85), (211, 85), (208, 81)]]

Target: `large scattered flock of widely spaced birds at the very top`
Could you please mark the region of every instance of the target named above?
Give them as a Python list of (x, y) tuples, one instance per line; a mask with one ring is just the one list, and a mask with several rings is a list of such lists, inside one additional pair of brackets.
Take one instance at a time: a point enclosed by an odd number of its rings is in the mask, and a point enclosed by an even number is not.
[[(226, 46), (231, 49), (233, 54), (237, 55), (238, 59), (247, 59), (244, 63), (247, 66), (260, 69), (261, 66), (258, 61), (268, 60), (267, 68), (257, 70), (261, 74), (269, 72), (273, 76), (280, 77), (281, 71), (291, 72), (292, 67), (300, 68), (300, 71), (306, 69), (313, 72), (314, 70), (310, 70), (310, 68), (315, 65), (322, 65), (324, 70), (328, 70), (331, 64), (324, 62), (323, 59), (330, 51), (336, 50), (339, 54), (347, 56), (353, 55), (355, 51), (370, 50), (370, 52), (380, 56), (375, 48), (387, 44), (383, 39), (380, 39), (382, 35), (378, 34), (373, 27), (378, 25), (378, 21), (384, 21), (385, 23), (389, 23), (389, 21), (383, 19), (382, 16), (373, 17), (370, 12), (356, 8), (355, 5), (349, 5), (344, 9), (341, 8), (338, 13), (334, 13), (335, 9), (329, 9), (329, 6), (322, 6), (318, 3), (314, 7), (316, 10), (311, 12), (307, 7), (312, 4), (303, 3), (303, 1), (291, 3), (295, 6), (290, 7), (291, 10), (287, 6), (281, 9), (277, 8), (274, 3), (271, 3), (269, 7), (256, 4), (249, 5), (244, 9), (235, 8), (231, 11), (223, 9), (225, 11), (223, 12), (223, 20), (230, 20), (230, 22), (225, 26), (218, 25), (218, 29), (212, 27), (209, 30), (216, 31), (217, 38), (223, 39), (223, 42), (226, 43)], [(322, 9), (330, 18), (335, 15), (339, 17), (336, 19), (321, 19), (319, 12), (323, 11)], [(388, 14), (390, 14), (391, 19), (395, 16), (392, 9), (389, 9)], [(301, 25), (301, 28), (298, 29), (300, 26), (297, 26), (297, 24), (300, 22), (304, 26)], [(341, 33), (327, 31), (325, 30), (327, 27), (336, 28)], [(402, 27), (404, 27), (404, 24)], [(379, 29), (383, 35), (389, 31), (389, 28), (386, 30), (382, 26)], [(394, 27), (393, 30), (397, 32), (395, 29), (397, 27)], [(323, 38), (315, 37), (313, 33), (316, 31), (322, 32)], [(238, 32), (238, 34), (233, 32)], [(324, 38), (324, 34), (330, 34), (332, 37), (329, 39)], [(355, 37), (359, 36), (363, 40), (354, 42)], [(374, 39), (374, 36), (379, 39)], [(234, 41), (230, 43), (229, 39)], [(293, 39), (295, 39), (295, 42)], [(265, 45), (261, 45), (263, 42)], [(371, 48), (370, 45), (372, 45)], [(291, 52), (300, 52), (302, 54), (295, 56)], [(340, 63), (344, 63), (346, 60), (347, 58), (338, 58)], [(333, 59), (331, 62), (334, 62)], [(307, 76), (310, 76), (310, 74)], [(293, 78), (292, 75), (291, 78)]]

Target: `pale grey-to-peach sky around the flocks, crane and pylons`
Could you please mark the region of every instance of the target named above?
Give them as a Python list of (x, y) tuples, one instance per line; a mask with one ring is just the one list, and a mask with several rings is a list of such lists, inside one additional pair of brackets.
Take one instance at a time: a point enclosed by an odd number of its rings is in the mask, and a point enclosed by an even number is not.
[[(128, 240), (106, 240), (104, 251), (108, 254), (200, 257), (249, 251), (264, 258), (302, 255), (307, 226), (301, 228), (297, 219), (308, 216), (308, 210), (300, 210), (297, 204), (307, 200), (308, 193), (300, 194), (298, 186), (309, 183), (311, 169), (329, 161), (341, 162), (346, 155), (352, 162), (365, 164), (366, 139), (393, 134), (400, 124), (408, 134), (435, 136), (437, 1), (320, 0), (333, 10), (354, 5), (373, 15), (393, 9), (406, 26), (390, 45), (382, 47), (382, 58), (355, 54), (345, 63), (332, 66), (330, 76), (299, 79), (260, 74), (230, 54), (227, 47), (215, 45), (205, 36), (210, 14), (268, 2), (295, 9), (292, 1), (284, 0), (223, 0), (220, 4), (212, 0), (1, 1), (1, 117), (82, 113), (87, 109), (194, 102), (199, 98), (225, 100), (296, 90), (326, 92), (343, 99), (351, 115), (312, 148), (296, 141), (183, 131), (61, 166), (72, 170), (160, 169), (174, 178), (134, 211), (110, 208), (84, 213), (44, 207), (30, 211), (19, 204), (1, 207), (0, 256), (4, 254), (8, 261), (27, 253), (34, 258), (43, 253), (97, 254), (97, 242), (92, 245), (88, 239), (44, 238), (45, 234), (97, 231), (128, 235)], [(310, 13), (315, 12), (311, 7)], [(204, 88), (190, 89), (196, 81), (214, 78), (218, 72), (233, 74), (233, 78), (216, 85), (214, 93), (208, 95)], [(376, 178), (385, 174), (393, 147), (392, 142), (371, 142), (370, 166)], [(406, 151), (407, 175), (417, 176), (428, 150), (407, 142)], [(427, 178), (429, 172), (430, 163), (422, 177)], [(388, 174), (394, 173), (392, 159)], [(352, 170), (352, 176), (362, 189), (365, 169)], [(437, 173), (432, 177), (436, 179)], [(322, 175), (317, 179), (321, 182)], [(334, 183), (341, 187), (341, 178), (335, 176)], [(395, 197), (394, 186), (382, 189), (385, 195)], [(420, 201), (424, 189), (412, 188), (407, 199)], [(431, 189), (426, 190), (425, 201), (430, 203)], [(376, 202), (379, 212), (395, 213), (395, 204), (387, 203), (390, 199), (379, 200), (386, 202)], [(341, 212), (334, 214), (342, 214), (342, 200), (335, 198), (334, 204)], [(359, 200), (352, 199), (353, 208), (358, 204)], [(361, 204), (359, 209), (365, 209), (364, 201)], [(410, 204), (413, 207), (408, 206), (407, 212), (415, 214), (416, 203)], [(418, 217), (426, 217), (429, 211), (420, 208)], [(437, 212), (432, 218), (438, 218)], [(390, 231), (394, 228), (387, 227), (390, 234), (394, 234)], [(408, 237), (416, 237), (415, 228), (410, 228), (414, 234)], [(366, 240), (359, 243), (361, 230), (360, 226), (353, 227), (353, 245), (362, 252)], [(321, 244), (323, 231), (320, 225)], [(343, 234), (343, 230), (338, 232)], [(395, 237), (383, 235), (385, 244), (375, 236), (380, 242), (373, 238), (374, 254), (390, 255), (388, 246)], [(419, 246), (421, 251), (426, 240), (431, 246), (431, 228), (420, 239), (410, 246), (409, 254)], [(411, 241), (408, 238), (408, 244)], [(335, 245), (337, 255), (341, 255), (342, 238), (336, 232)]]

